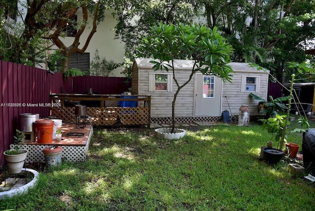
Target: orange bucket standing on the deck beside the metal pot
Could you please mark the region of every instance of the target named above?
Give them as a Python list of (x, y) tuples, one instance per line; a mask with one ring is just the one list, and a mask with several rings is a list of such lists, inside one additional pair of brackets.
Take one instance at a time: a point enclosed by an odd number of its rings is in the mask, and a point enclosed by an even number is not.
[(53, 142), (54, 121), (51, 119), (38, 119), (35, 121), (35, 134), (37, 143)]

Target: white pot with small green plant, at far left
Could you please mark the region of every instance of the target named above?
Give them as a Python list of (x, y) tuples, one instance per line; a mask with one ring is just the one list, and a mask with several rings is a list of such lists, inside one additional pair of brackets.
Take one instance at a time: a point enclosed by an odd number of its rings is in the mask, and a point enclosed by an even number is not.
[(14, 143), (16, 146), (13, 149), (8, 149), (3, 152), (6, 166), (11, 174), (18, 174), (22, 171), (25, 163), (25, 159), (28, 154), (28, 150), (23, 149), (24, 142), (23, 134), (21, 131), (16, 130), (16, 136), (14, 136)]

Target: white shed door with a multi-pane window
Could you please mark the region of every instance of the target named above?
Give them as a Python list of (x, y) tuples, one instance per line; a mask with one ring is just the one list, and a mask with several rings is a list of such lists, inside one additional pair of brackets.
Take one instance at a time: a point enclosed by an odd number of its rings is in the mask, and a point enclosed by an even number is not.
[(221, 115), (222, 80), (214, 75), (196, 73), (195, 116)]

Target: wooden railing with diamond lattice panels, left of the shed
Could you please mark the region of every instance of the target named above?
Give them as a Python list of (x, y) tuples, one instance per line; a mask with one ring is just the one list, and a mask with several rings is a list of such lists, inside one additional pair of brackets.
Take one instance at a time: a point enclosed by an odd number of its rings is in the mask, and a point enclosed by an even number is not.
[(52, 94), (50, 101), (52, 116), (63, 122), (77, 122), (75, 106), (86, 105), (86, 121), (93, 125), (150, 126), (151, 95)]

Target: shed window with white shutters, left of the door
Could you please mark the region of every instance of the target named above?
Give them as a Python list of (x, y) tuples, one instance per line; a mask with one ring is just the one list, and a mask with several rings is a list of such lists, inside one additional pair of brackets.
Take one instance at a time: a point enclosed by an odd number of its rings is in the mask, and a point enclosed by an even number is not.
[(149, 92), (172, 92), (171, 73), (149, 73)]

